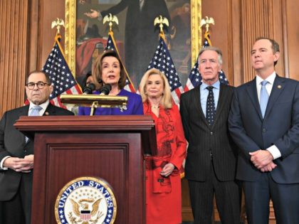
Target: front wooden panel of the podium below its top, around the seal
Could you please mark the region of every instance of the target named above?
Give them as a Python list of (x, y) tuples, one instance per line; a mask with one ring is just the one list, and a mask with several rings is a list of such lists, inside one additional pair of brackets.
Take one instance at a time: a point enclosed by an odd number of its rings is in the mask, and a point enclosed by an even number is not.
[(32, 223), (56, 223), (56, 197), (66, 183), (92, 176), (112, 186), (115, 223), (144, 223), (144, 165), (139, 132), (37, 133)]

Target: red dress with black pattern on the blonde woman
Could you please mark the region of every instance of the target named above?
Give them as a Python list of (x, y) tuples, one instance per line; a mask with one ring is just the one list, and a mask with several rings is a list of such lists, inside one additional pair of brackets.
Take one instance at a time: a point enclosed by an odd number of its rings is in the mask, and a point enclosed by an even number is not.
[[(150, 105), (143, 103), (145, 114), (151, 115), (157, 134), (157, 156), (146, 156), (146, 220), (147, 224), (182, 223), (182, 163), (186, 157), (187, 142), (177, 105), (171, 109), (160, 106), (159, 117)], [(167, 178), (159, 175), (165, 164), (175, 168)]]

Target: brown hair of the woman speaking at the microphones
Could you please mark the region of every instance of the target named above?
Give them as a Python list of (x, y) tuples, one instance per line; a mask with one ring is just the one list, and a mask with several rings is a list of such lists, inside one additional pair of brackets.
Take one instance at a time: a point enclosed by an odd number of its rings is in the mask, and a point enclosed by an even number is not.
[(125, 87), (125, 81), (127, 79), (127, 74), (125, 73), (125, 68), (122, 65), (122, 61), (120, 60), (120, 57), (117, 55), (115, 50), (105, 50), (105, 52), (102, 55), (100, 55), (97, 59), (95, 59), (95, 62), (93, 63), (93, 69), (92, 69), (95, 88), (97, 90), (99, 90), (100, 87), (103, 86), (102, 63), (103, 63), (103, 59), (105, 57), (114, 57), (120, 63), (120, 80), (118, 81), (118, 88), (121, 90), (123, 87)]

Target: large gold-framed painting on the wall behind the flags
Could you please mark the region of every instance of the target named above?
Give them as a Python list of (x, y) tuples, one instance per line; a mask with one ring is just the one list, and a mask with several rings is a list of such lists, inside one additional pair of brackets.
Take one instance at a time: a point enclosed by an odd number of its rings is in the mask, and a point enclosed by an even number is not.
[(118, 18), (112, 30), (135, 89), (159, 45), (154, 18), (167, 18), (167, 46), (184, 87), (201, 47), (201, 0), (66, 0), (65, 55), (80, 84), (105, 49), (109, 28), (103, 17), (108, 14)]

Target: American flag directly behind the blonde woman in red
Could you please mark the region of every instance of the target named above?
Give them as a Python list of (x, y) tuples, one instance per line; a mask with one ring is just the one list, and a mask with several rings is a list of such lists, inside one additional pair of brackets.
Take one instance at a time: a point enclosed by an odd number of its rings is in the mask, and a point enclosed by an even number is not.
[(167, 45), (162, 37), (160, 37), (159, 46), (157, 46), (157, 50), (154, 53), (154, 57), (152, 58), (147, 70), (151, 68), (157, 68), (166, 75), (170, 90), (172, 91), (172, 99), (177, 105), (179, 105), (179, 97), (181, 97), (184, 90), (182, 83), (179, 81), (177, 70), (174, 68), (172, 57), (170, 56)]

